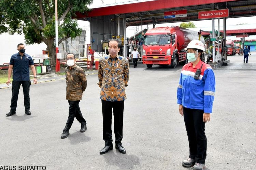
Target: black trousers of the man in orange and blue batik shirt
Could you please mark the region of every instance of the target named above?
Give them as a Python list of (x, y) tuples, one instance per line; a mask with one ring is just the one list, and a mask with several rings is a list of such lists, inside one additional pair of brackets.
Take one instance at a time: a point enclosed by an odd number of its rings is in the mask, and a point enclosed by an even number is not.
[(112, 146), (112, 109), (114, 115), (114, 132), (115, 132), (115, 143), (120, 145), (123, 139), (123, 119), (124, 119), (124, 100), (123, 101), (105, 101), (101, 100), (102, 103), (102, 116), (103, 116), (103, 140), (105, 146)]

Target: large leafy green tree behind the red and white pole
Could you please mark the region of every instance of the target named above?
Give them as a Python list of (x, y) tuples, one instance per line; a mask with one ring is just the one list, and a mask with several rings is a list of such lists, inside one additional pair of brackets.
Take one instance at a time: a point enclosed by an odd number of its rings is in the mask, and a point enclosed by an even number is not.
[[(58, 0), (58, 44), (82, 33), (75, 12), (89, 10), (93, 0)], [(56, 64), (54, 0), (0, 0), (0, 34), (24, 34), (26, 44), (47, 45), (52, 64)]]

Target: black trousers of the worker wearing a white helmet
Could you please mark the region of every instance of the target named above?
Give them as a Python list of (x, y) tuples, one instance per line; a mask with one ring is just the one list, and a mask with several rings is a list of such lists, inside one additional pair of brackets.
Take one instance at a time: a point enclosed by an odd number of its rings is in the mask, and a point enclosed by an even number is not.
[(183, 117), (189, 142), (189, 158), (204, 164), (206, 159), (205, 122), (203, 110), (183, 107)]

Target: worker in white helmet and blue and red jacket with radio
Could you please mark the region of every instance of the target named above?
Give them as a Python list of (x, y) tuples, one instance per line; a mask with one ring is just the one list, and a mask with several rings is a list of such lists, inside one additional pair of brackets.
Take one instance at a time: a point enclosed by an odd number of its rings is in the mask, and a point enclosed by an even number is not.
[(205, 167), (205, 123), (210, 121), (215, 94), (215, 77), (212, 68), (202, 61), (204, 44), (192, 40), (187, 48), (190, 63), (183, 66), (177, 89), (179, 112), (184, 117), (189, 158), (182, 162), (185, 167), (201, 170)]

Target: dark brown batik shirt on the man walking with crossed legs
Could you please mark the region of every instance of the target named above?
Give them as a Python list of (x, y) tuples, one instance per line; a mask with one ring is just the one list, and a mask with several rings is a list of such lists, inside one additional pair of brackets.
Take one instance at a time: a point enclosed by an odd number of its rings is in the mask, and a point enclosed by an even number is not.
[(85, 71), (74, 64), (71, 69), (69, 66), (65, 69), (66, 72), (66, 99), (71, 101), (82, 100), (82, 93), (87, 86)]

